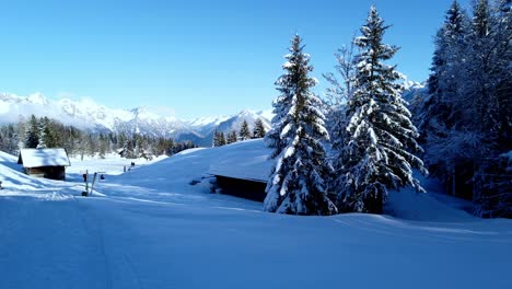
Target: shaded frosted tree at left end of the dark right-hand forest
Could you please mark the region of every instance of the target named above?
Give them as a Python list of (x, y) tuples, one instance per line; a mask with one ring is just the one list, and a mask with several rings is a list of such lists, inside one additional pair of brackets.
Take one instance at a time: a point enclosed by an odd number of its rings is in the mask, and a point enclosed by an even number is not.
[[(445, 184), (454, 183), (455, 172), (461, 166), (455, 160), (459, 160), (461, 153), (466, 152), (466, 140), (473, 139), (464, 136), (467, 106), (461, 102), (466, 99), (462, 80), (468, 77), (466, 62), (469, 34), (468, 16), (454, 0), (435, 36), (432, 73), (428, 81), (429, 95), (416, 117), (426, 149), (423, 158), (427, 165), (432, 175)], [(472, 165), (463, 164), (462, 167)], [(452, 193), (454, 187), (449, 186)]]

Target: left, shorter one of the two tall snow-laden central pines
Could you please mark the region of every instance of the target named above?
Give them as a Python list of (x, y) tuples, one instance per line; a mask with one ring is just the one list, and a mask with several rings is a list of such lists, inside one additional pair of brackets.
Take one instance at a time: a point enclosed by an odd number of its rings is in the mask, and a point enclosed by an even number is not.
[(274, 148), (276, 164), (268, 181), (264, 209), (291, 215), (331, 215), (336, 207), (327, 198), (324, 176), (331, 171), (325, 160), (322, 140), (329, 136), (324, 127), (322, 101), (311, 92), (316, 80), (313, 67), (295, 35), (288, 60), (276, 85), (281, 92), (274, 102), (274, 129), (266, 139)]

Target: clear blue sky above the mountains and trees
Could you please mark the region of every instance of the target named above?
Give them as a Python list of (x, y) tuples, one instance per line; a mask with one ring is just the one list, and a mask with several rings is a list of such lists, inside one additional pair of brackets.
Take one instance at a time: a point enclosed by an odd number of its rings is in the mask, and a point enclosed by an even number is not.
[(267, 109), (291, 37), (304, 38), (325, 82), (334, 51), (359, 32), (372, 3), (393, 25), (384, 42), (402, 47), (393, 62), (423, 81), (451, 2), (1, 1), (0, 91), (170, 107), (179, 118)]

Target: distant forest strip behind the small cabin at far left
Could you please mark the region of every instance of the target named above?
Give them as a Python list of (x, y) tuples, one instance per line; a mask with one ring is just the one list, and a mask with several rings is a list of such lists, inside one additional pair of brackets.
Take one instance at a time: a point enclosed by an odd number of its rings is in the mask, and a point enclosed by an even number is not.
[(0, 126), (0, 150), (16, 155), (21, 148), (65, 148), (68, 154), (80, 158), (104, 158), (113, 152), (126, 158), (151, 158), (174, 154), (195, 144), (140, 134), (92, 132), (32, 115), (27, 120)]

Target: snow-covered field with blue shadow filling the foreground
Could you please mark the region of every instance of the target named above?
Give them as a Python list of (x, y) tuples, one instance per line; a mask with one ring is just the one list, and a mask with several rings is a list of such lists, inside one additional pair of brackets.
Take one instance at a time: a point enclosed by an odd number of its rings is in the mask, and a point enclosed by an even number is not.
[[(68, 182), (26, 176), (0, 152), (0, 288), (512, 288), (512, 220), (447, 196), (396, 193), (393, 216), (294, 217), (210, 193), (210, 164), (259, 148), (126, 173), (131, 160), (72, 159)], [(86, 198), (85, 170), (105, 174)]]

